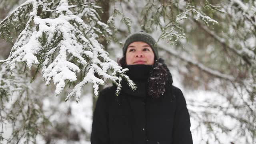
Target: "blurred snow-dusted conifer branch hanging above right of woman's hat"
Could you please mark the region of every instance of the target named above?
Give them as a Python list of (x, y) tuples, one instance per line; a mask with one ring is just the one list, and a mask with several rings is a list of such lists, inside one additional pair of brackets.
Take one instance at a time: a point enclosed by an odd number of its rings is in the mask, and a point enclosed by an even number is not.
[[(160, 38), (166, 39), (170, 44), (176, 44), (180, 39), (186, 38), (185, 33), (183, 32), (184, 30), (180, 26), (184, 19), (193, 17), (198, 21), (202, 20), (207, 25), (218, 24), (216, 20), (202, 12), (200, 8), (193, 6), (189, 2), (183, 2), (184, 4), (181, 3), (172, 4), (172, 2), (166, 2), (159, 5), (154, 2), (148, 2), (141, 12), (142, 17), (144, 18), (142, 28), (150, 32), (154, 25), (160, 26), (162, 30)], [(218, 6), (214, 6), (209, 2), (206, 6), (214, 10), (221, 11)], [(173, 9), (178, 10), (178, 14), (176, 16), (173, 16)]]

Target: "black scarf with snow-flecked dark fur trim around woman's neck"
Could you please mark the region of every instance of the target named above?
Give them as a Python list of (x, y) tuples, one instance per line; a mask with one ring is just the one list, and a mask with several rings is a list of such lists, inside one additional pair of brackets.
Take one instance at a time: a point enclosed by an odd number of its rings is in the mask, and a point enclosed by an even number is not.
[(172, 85), (172, 75), (164, 64), (164, 60), (159, 58), (154, 62), (154, 65), (128, 65), (123, 68), (128, 68), (126, 74), (137, 86), (137, 89), (132, 91), (126, 81), (122, 81), (122, 90), (132, 96), (146, 98), (148, 94), (152, 98), (159, 98), (164, 95), (166, 88)]

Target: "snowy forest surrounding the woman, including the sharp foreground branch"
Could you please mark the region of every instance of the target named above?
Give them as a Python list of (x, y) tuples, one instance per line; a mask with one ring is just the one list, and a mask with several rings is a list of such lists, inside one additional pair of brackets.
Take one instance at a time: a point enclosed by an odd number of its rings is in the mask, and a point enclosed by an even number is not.
[(256, 1), (0, 0), (0, 144), (90, 144), (144, 30), (180, 88), (194, 144), (256, 144)]

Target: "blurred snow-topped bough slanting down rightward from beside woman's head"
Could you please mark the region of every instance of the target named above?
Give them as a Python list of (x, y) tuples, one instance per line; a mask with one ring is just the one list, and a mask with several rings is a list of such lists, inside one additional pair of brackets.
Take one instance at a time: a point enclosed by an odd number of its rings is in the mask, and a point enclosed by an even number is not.
[(177, 58), (180, 58), (181, 60), (188, 62), (189, 64), (192, 64), (196, 67), (198, 67), (200, 70), (211, 74), (213, 76), (216, 76), (218, 78), (223, 78), (225, 80), (229, 80), (229, 81), (234, 81), (235, 78), (233, 76), (230, 76), (228, 74), (222, 74), (221, 72), (217, 71), (217, 70), (212, 70), (211, 68), (208, 68), (206, 66), (204, 66), (203, 64), (201, 64), (200, 62), (197, 62), (196, 60), (192, 60), (191, 58), (185, 57), (185, 56), (181, 56), (180, 54), (178, 54), (178, 52), (175, 52), (174, 50), (171, 50), (170, 48), (166, 48), (163, 45), (158, 44), (158, 48), (168, 52), (169, 54), (176, 56)]

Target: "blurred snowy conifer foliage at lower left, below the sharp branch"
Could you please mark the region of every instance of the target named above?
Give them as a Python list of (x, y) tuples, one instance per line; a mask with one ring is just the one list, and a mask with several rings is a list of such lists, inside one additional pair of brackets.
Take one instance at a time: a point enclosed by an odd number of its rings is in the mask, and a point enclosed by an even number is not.
[[(30, 95), (34, 89), (26, 79), (22, 66), (18, 65), (12, 76), (9, 72), (10, 68), (0, 64), (0, 142), (19, 143), (23, 139), (24, 143), (28, 143), (42, 134), (42, 125), (47, 124), (48, 118), (40, 109), (40, 96)], [(6, 129), (6, 126), (11, 128)]]

